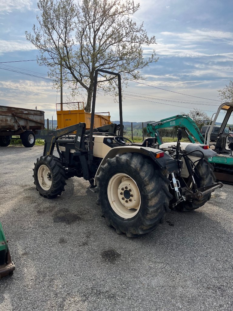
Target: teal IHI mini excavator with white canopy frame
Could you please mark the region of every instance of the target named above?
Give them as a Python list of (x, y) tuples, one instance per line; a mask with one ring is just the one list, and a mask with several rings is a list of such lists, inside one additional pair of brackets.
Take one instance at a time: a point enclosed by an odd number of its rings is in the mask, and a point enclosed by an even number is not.
[[(233, 132), (231, 131), (231, 128), (229, 129), (229, 133), (224, 132), (229, 119), (233, 117), (232, 111), (233, 103), (226, 102), (221, 104), (217, 109), (217, 112), (212, 115), (210, 120), (210, 123), (212, 122), (212, 124), (210, 125), (209, 123), (210, 128), (205, 137), (203, 137), (200, 133), (196, 123), (185, 114), (177, 114), (170, 118), (148, 123), (147, 132), (151, 135), (151, 137), (157, 138), (160, 149), (163, 146), (163, 141), (159, 134), (159, 129), (173, 126), (178, 126), (181, 128), (186, 133), (186, 136), (190, 142), (195, 143), (195, 138), (200, 144), (207, 144), (210, 146), (210, 134), (219, 114), (223, 112), (225, 116), (218, 131), (217, 142), (213, 149), (215, 152), (217, 152), (217, 156), (209, 158), (208, 161), (214, 167), (214, 174), (217, 180), (221, 180), (224, 183), (233, 184)], [(171, 143), (171, 145), (172, 144), (174, 143)]]

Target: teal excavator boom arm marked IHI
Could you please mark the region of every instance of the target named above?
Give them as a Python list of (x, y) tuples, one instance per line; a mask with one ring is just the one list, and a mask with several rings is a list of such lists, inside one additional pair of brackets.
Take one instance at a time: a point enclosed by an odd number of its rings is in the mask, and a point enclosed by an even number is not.
[[(157, 122), (148, 123), (147, 124), (147, 132), (150, 134), (151, 137), (157, 138), (157, 143), (162, 145), (162, 138), (159, 135), (158, 130), (161, 128), (171, 128), (173, 126), (179, 126), (182, 128), (189, 141), (195, 143), (193, 137), (201, 144), (204, 144), (204, 137), (200, 133), (199, 128), (197, 127), (196, 123), (186, 114), (177, 114), (173, 117), (162, 119)], [(191, 133), (188, 132), (188, 131)]]

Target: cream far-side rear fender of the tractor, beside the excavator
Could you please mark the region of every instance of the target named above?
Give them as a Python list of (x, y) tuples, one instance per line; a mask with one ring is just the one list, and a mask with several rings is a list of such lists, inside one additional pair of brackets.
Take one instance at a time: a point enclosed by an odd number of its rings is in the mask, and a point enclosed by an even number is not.
[[(176, 142), (166, 142), (159, 146), (159, 148), (168, 148), (168, 147), (175, 147)], [(180, 142), (180, 150), (186, 150), (187, 153), (190, 153), (190, 156), (195, 156), (197, 158), (202, 158), (204, 154), (204, 159), (212, 158), (213, 156), (217, 156), (217, 152), (213, 151), (212, 149), (203, 149), (204, 144), (193, 144), (191, 142)], [(203, 152), (203, 154), (201, 152)]]

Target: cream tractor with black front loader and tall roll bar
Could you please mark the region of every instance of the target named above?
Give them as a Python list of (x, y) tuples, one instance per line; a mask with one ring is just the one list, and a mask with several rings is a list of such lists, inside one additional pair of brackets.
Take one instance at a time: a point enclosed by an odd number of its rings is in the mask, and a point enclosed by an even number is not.
[[(94, 127), (98, 74), (118, 78), (120, 124)], [(75, 132), (75, 133), (74, 133)], [(216, 153), (206, 145), (177, 143), (159, 149), (156, 137), (141, 144), (123, 137), (121, 76), (96, 70), (90, 129), (85, 123), (48, 132), (43, 156), (34, 164), (34, 184), (40, 195), (54, 198), (73, 176), (90, 182), (107, 225), (118, 234), (136, 237), (154, 230), (171, 209), (191, 211), (203, 206), (215, 183)], [(56, 146), (59, 157), (53, 155)], [(181, 148), (182, 147), (182, 148)]]

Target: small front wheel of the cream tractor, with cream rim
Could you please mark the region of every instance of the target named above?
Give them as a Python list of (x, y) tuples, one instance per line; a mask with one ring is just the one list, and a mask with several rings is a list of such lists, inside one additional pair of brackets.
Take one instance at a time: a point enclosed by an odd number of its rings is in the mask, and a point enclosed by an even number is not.
[(34, 163), (34, 184), (40, 195), (54, 198), (65, 190), (65, 169), (61, 161), (55, 156), (41, 156)]

